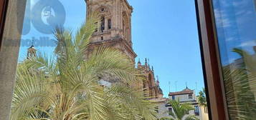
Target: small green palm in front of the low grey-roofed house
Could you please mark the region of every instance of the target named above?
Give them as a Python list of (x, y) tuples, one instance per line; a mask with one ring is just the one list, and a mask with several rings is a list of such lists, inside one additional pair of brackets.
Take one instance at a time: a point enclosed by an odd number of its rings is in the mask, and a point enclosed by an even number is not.
[(161, 118), (161, 120), (197, 120), (196, 116), (189, 115), (189, 111), (194, 110), (194, 107), (191, 106), (189, 103), (181, 104), (179, 101), (171, 100), (168, 102), (173, 111), (171, 111), (169, 114), (171, 115), (171, 118)]

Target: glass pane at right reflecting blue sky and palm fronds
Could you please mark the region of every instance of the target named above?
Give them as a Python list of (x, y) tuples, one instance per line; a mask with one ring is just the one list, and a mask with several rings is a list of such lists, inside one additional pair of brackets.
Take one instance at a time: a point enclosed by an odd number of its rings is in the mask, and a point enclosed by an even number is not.
[(252, 0), (214, 0), (229, 119), (256, 113), (256, 11)]

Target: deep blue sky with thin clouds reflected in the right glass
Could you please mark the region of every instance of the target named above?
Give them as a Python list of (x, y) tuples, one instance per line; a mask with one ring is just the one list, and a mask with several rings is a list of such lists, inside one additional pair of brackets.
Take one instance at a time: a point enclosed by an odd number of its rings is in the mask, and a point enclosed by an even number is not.
[(239, 54), (232, 52), (234, 48), (255, 54), (253, 50), (253, 46), (256, 46), (254, 2), (215, 0), (213, 3), (223, 66), (241, 58)]

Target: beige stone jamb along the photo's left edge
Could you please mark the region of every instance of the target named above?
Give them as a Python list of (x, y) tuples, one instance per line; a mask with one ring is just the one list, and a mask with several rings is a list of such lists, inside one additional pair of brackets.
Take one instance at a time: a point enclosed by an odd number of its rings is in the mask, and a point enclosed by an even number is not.
[(0, 50), (0, 120), (9, 120), (26, 0), (9, 0)]

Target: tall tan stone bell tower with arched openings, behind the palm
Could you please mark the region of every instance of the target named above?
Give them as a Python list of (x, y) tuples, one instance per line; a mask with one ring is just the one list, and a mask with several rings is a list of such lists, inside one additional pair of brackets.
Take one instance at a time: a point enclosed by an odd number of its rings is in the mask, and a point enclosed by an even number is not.
[(85, 0), (86, 16), (99, 13), (99, 21), (90, 42), (90, 51), (98, 46), (110, 46), (123, 51), (134, 62), (136, 53), (131, 41), (133, 7), (127, 0)]

